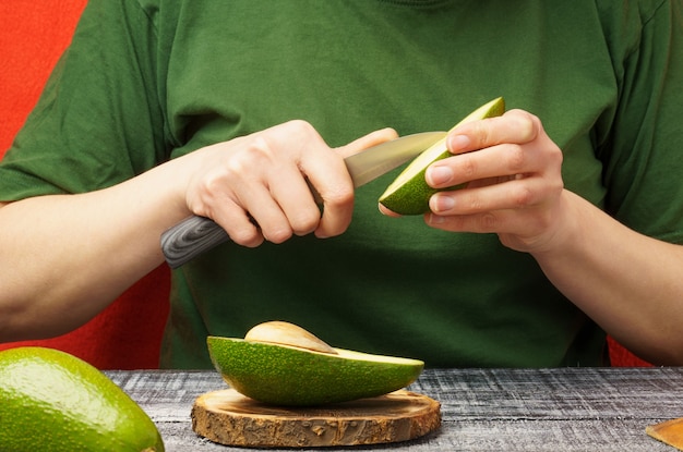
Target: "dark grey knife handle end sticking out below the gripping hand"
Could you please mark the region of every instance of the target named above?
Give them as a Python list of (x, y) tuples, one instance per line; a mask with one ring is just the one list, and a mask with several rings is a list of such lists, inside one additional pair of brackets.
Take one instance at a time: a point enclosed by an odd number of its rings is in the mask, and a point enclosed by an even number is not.
[(178, 268), (229, 239), (212, 219), (194, 216), (161, 234), (161, 251), (170, 268)]

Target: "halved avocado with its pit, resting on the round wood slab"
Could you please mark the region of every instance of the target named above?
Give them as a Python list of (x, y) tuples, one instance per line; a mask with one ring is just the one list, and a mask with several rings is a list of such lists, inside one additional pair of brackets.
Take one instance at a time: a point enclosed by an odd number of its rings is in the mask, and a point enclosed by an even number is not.
[(311, 406), (372, 398), (415, 381), (424, 363), (333, 349), (283, 321), (257, 325), (244, 339), (209, 337), (216, 369), (235, 390), (260, 402)]

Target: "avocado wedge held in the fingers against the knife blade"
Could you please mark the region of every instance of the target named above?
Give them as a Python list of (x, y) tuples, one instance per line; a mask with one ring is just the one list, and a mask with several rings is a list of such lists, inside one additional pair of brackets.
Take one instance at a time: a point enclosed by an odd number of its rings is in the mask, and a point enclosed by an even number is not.
[[(486, 118), (500, 117), (505, 112), (505, 101), (502, 97), (495, 98), (472, 111), (465, 119), (454, 125), (451, 131), (467, 122)], [(436, 192), (457, 190), (465, 184), (445, 188), (432, 188), (424, 179), (427, 169), (433, 162), (452, 157), (446, 146), (446, 138), (442, 138), (416, 157), (406, 169), (398, 174), (386, 191), (380, 196), (380, 204), (399, 215), (422, 215), (429, 211), (429, 199)]]

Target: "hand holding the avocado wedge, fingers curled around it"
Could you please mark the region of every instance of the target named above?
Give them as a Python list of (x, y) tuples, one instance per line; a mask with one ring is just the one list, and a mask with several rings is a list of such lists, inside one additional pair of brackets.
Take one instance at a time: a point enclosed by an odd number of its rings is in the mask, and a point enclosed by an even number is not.
[(434, 188), (467, 183), (430, 199), (428, 224), (446, 231), (491, 233), (520, 252), (552, 247), (562, 228), (562, 150), (541, 121), (511, 110), (462, 125), (447, 137), (453, 157), (426, 174)]

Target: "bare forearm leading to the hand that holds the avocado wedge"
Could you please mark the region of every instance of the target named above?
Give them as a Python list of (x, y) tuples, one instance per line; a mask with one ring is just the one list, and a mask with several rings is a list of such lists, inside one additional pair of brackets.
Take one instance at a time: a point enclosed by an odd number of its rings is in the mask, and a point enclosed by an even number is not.
[(534, 253), (570, 300), (652, 363), (683, 362), (683, 247), (638, 234), (568, 192), (560, 246)]

